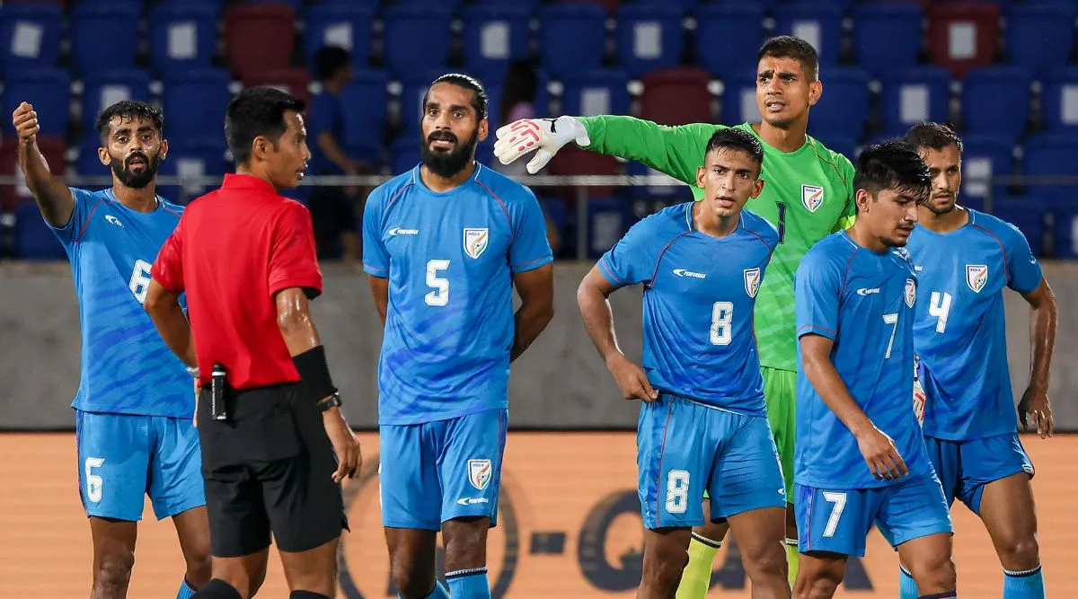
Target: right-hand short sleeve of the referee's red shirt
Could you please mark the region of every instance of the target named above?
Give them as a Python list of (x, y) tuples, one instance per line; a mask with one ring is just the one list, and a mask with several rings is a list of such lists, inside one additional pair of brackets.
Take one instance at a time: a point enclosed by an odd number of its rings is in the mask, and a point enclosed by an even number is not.
[(322, 292), (310, 212), (298, 201), (286, 204), (270, 243), (270, 296), (293, 287), (303, 289), (312, 300)]

